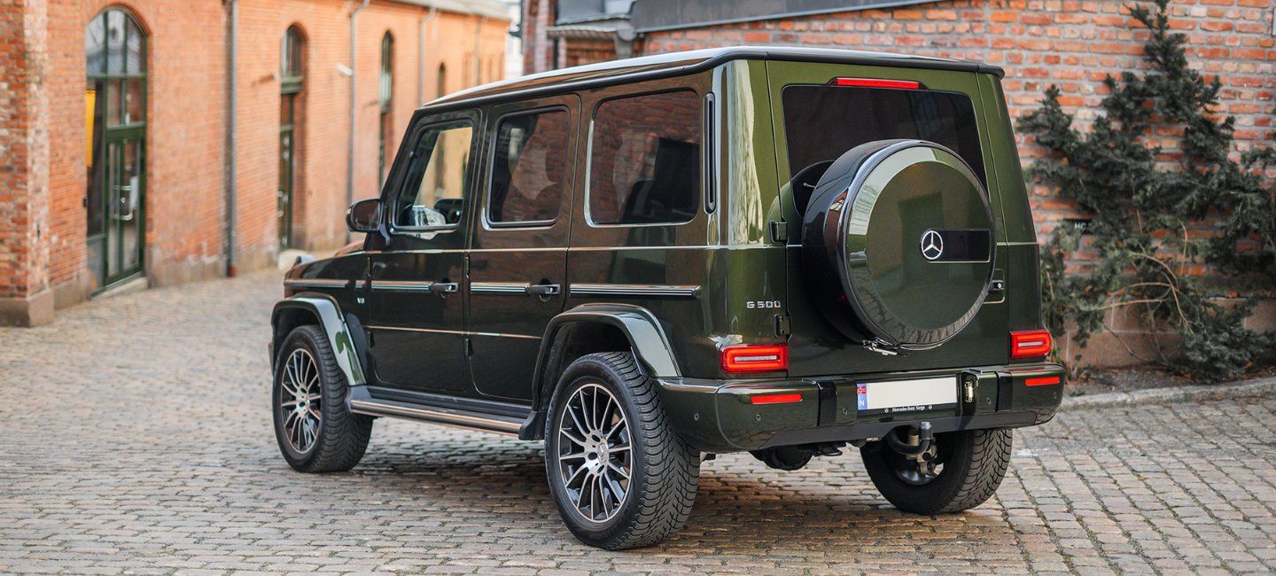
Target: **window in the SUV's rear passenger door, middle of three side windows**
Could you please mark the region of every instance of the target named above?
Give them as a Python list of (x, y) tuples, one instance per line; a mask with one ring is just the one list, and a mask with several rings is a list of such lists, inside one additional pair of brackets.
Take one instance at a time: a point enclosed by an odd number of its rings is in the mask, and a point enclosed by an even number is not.
[(567, 175), (567, 110), (507, 116), (496, 126), (487, 221), (553, 222)]

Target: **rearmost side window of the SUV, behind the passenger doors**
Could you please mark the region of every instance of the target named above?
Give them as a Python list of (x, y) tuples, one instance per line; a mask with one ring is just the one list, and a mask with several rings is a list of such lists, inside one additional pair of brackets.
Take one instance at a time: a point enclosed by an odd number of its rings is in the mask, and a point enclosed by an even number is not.
[(701, 101), (695, 92), (610, 100), (593, 117), (590, 220), (676, 224), (701, 206)]

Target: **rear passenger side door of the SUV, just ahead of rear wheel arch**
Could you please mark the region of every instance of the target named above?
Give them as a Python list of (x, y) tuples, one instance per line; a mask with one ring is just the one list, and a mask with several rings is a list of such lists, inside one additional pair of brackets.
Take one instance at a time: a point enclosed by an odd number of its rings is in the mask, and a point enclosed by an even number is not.
[(470, 248), (470, 370), (480, 393), (531, 400), (541, 337), (563, 310), (579, 98), (501, 105)]

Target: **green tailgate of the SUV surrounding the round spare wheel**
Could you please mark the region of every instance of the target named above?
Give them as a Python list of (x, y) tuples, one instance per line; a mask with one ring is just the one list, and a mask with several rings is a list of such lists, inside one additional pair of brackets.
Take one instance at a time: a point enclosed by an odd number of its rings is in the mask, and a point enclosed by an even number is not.
[[(940, 367), (991, 365), (1007, 361), (1007, 307), (1004, 291), (991, 291), (976, 317), (956, 337), (933, 350), (905, 356), (886, 356), (851, 341), (823, 318), (806, 298), (801, 268), (801, 212), (813, 186), (804, 185), (803, 170), (837, 160), (864, 143), (897, 138), (939, 143), (954, 151), (983, 181), (997, 222), (998, 243), (993, 278), (1005, 278), (1008, 250), (1002, 201), (995, 179), (989, 129), (981, 114), (977, 74), (956, 70), (926, 70), (845, 64), (767, 63), (771, 114), (775, 123), (776, 161), (780, 186), (790, 186), (783, 212), (789, 234), (789, 295), (792, 315), (790, 375), (891, 372)], [(886, 80), (886, 82), (883, 82)], [(819, 172), (818, 172), (819, 174)], [(795, 179), (790, 181), (790, 179)], [(817, 178), (818, 180), (818, 178)], [(952, 209), (928, 199), (926, 189), (916, 198), (893, 207), (916, 222), (942, 221)], [(878, 218), (879, 208), (874, 208)], [(882, 226), (892, 218), (882, 215)], [(896, 218), (898, 220), (898, 218)], [(923, 226), (925, 227), (925, 226)], [(880, 231), (880, 230), (879, 230)], [(874, 234), (874, 229), (869, 229)], [(919, 245), (920, 232), (910, 231), (906, 246)], [(911, 240), (916, 238), (917, 240)], [(901, 277), (898, 290), (916, 291), (915, 282)], [(946, 303), (951, 294), (933, 290), (917, 295), (917, 305)], [(956, 305), (956, 304), (954, 304)]]

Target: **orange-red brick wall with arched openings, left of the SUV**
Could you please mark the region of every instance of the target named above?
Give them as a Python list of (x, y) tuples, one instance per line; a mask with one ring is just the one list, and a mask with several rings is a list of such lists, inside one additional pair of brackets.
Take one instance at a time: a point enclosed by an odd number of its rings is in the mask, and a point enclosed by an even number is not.
[[(341, 0), (240, 0), (237, 267), (273, 266), (279, 170), (279, 52), (306, 37), (295, 240), (345, 244), (350, 155), (350, 13)], [(145, 272), (152, 285), (219, 276), (227, 253), (230, 11), (217, 0), (8, 0), (0, 5), (0, 323), (40, 323), (96, 286), (85, 245), (84, 28), (122, 8), (147, 40)], [(424, 26), (422, 26), (424, 24)], [(380, 41), (394, 36), (393, 158), (412, 111), (504, 75), (496, 18), (374, 0), (359, 15), (355, 197), (378, 183)], [(424, 32), (424, 36), (422, 36)], [(475, 51), (480, 54), (475, 54)], [(477, 64), (477, 66), (476, 66)], [(424, 73), (424, 75), (422, 75)], [(38, 309), (34, 321), (32, 310)], [(17, 312), (15, 312), (17, 310)]]

